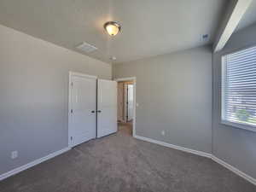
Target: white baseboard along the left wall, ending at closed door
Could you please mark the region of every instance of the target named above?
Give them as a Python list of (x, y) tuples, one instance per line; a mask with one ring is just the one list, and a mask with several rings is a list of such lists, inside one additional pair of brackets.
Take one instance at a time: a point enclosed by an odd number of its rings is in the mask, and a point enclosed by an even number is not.
[(44, 162), (45, 160), (49, 160), (51, 158), (54, 158), (55, 156), (59, 155), (59, 154), (63, 154), (65, 152), (67, 152), (68, 150), (70, 150), (71, 148), (62, 148), (61, 150), (59, 151), (56, 151), (52, 154), (48, 154), (47, 156), (44, 156), (38, 160), (33, 160), (32, 162), (24, 165), (24, 166), (20, 166), (20, 167), (17, 167), (9, 172), (5, 172), (3, 173), (2, 175), (0, 175), (0, 181), (2, 181), (3, 179), (7, 178), (7, 177), (11, 177), (19, 172), (22, 172), (22, 171), (25, 171), (26, 169), (32, 167), (32, 166), (36, 166), (38, 165), (39, 163), (42, 163)]

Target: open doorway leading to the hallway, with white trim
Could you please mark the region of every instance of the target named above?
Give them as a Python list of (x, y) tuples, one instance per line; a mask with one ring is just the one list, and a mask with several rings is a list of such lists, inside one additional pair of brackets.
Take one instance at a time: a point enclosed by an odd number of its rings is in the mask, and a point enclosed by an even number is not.
[(135, 136), (136, 79), (116, 79), (118, 82), (118, 130)]

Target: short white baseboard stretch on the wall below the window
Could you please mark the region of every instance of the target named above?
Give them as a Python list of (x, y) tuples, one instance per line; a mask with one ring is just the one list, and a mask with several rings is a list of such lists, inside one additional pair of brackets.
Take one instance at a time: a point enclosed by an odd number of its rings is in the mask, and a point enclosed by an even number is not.
[(220, 160), (218, 159), (218, 157), (212, 155), (212, 160), (214, 160), (216, 163), (218, 163), (221, 166), (226, 167), (227, 169), (229, 169), (231, 172), (236, 173), (236, 175), (239, 175), (240, 177), (243, 177), (244, 179), (246, 179), (248, 182), (253, 183), (254, 185), (256, 185), (256, 179), (247, 175), (244, 172), (241, 172), (239, 169), (237, 169), (234, 166), (230, 166), (230, 164), (226, 163), (224, 160)]

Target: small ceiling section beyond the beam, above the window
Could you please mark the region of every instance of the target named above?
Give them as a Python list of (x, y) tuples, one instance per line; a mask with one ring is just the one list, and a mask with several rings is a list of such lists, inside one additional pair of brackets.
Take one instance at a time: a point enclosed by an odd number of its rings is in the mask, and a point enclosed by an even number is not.
[(253, 0), (245, 15), (242, 16), (238, 26), (236, 27), (236, 32), (247, 26), (251, 26), (254, 23), (256, 23), (256, 0)]

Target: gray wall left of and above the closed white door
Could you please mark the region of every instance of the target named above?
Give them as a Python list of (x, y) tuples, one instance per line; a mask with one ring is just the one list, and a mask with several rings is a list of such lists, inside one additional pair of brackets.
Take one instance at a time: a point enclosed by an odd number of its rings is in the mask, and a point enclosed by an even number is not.
[(112, 75), (107, 63), (0, 26), (0, 174), (67, 147), (69, 70)]

